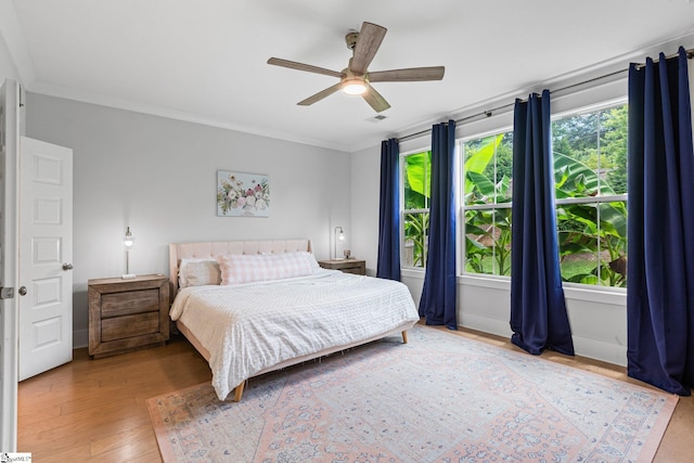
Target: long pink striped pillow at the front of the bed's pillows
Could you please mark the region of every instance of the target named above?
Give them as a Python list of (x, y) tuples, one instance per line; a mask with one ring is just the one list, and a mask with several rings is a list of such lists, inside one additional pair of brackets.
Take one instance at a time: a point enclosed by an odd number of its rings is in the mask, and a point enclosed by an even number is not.
[(228, 254), (219, 256), (221, 284), (283, 280), (313, 273), (309, 253)]

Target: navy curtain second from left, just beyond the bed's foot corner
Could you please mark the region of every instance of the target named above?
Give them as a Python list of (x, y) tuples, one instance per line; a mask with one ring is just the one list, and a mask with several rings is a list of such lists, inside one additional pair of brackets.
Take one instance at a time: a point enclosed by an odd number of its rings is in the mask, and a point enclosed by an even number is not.
[(458, 330), (455, 314), (455, 121), (432, 128), (429, 236), (420, 317)]

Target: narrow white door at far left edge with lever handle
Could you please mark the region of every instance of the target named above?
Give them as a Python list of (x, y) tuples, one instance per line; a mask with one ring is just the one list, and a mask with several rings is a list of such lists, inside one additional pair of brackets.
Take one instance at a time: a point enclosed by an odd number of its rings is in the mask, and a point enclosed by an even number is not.
[[(20, 142), (20, 87), (5, 80), (0, 87), (0, 286), (17, 281), (17, 143)], [(0, 299), (0, 451), (17, 447), (17, 299)], [(14, 297), (10, 297), (14, 296)]]

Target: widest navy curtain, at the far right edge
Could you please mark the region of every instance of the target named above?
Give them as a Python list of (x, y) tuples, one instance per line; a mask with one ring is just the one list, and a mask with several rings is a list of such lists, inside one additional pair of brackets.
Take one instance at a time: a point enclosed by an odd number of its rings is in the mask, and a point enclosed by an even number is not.
[(686, 52), (629, 68), (628, 374), (694, 385), (694, 150)]

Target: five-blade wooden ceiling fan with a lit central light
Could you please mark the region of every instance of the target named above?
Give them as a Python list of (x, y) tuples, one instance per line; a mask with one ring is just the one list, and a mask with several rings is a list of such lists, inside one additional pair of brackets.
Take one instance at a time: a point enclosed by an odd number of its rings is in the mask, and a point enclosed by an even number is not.
[(311, 66), (310, 64), (297, 63), (294, 61), (271, 57), (268, 64), (274, 66), (288, 67), (291, 69), (306, 70), (308, 73), (323, 74), (337, 77), (339, 82), (322, 90), (314, 95), (299, 101), (301, 106), (311, 105), (321, 101), (327, 95), (338, 90), (347, 94), (361, 95), (376, 113), (381, 113), (390, 107), (388, 102), (372, 86), (372, 82), (406, 82), (421, 80), (441, 80), (444, 78), (444, 66), (432, 67), (410, 67), (406, 69), (368, 70), (371, 61), (376, 55), (378, 47), (386, 35), (385, 27), (364, 22), (360, 31), (351, 31), (345, 37), (347, 48), (352, 50), (352, 57), (349, 64), (342, 72), (325, 69), (323, 67)]

